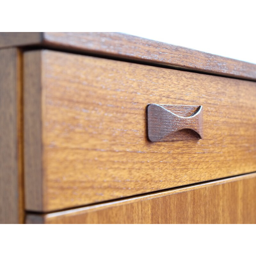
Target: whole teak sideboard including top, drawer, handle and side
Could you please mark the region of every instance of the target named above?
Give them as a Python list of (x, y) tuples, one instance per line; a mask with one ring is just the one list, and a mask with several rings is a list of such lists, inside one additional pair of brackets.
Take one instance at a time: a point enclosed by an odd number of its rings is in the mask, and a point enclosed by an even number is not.
[(121, 33), (0, 33), (0, 223), (256, 223), (256, 65)]

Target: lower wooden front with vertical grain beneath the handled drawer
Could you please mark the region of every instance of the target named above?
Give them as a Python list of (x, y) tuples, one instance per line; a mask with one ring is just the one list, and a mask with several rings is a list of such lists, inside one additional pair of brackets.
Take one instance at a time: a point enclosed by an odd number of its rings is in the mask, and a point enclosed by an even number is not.
[(26, 223), (256, 223), (256, 174), (49, 214)]

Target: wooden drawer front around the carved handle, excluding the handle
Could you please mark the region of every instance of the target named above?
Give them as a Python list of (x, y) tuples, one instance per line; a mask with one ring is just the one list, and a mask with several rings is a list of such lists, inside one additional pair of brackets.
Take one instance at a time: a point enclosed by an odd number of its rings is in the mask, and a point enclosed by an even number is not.
[[(50, 50), (24, 55), (27, 210), (256, 170), (255, 82)], [(202, 105), (204, 139), (149, 142), (149, 103)]]

